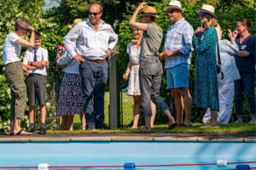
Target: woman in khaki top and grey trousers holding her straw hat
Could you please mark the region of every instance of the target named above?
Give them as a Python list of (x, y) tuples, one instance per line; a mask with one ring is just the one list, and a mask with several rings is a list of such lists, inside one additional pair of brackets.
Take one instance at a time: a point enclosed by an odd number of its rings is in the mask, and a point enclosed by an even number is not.
[[(141, 9), (142, 13), (140, 16), (143, 23), (136, 21), (137, 14)], [(141, 54), (139, 56), (139, 82), (142, 95), (141, 104), (145, 117), (145, 127), (142, 128), (142, 132), (151, 132), (150, 120), (152, 110), (150, 100), (152, 100), (154, 104), (168, 116), (168, 128), (176, 126), (168, 105), (166, 105), (160, 98), (160, 83), (163, 70), (158, 55), (163, 31), (155, 22), (155, 18), (158, 17), (156, 9), (143, 2), (138, 5), (130, 20), (131, 26), (143, 30)]]

